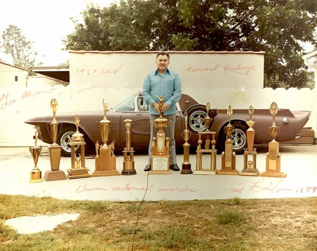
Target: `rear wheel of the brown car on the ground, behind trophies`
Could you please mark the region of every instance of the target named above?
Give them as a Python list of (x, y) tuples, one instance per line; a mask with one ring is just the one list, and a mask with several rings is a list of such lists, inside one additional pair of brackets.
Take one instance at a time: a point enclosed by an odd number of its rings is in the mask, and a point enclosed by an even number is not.
[[(236, 155), (244, 153), (244, 149), (247, 147), (247, 129), (248, 126), (242, 122), (233, 122), (232, 126), (234, 130), (230, 136), (232, 140), (232, 149), (236, 152)], [(225, 141), (228, 139), (228, 136), (225, 134), (224, 129), (219, 135), (219, 146), (223, 152), (225, 149)]]

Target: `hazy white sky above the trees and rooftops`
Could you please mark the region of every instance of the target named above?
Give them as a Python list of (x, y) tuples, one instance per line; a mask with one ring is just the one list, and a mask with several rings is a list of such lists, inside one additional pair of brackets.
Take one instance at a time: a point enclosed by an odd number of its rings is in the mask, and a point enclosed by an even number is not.
[[(71, 17), (81, 17), (80, 12), (87, 4), (95, 3), (101, 8), (107, 7), (119, 0), (8, 0), (2, 1), (0, 10), (0, 32), (9, 24), (15, 24), (33, 41), (33, 49), (37, 51), (36, 62), (41, 66), (57, 66), (65, 63), (68, 52), (64, 48), (62, 39), (74, 31)], [(80, 19), (79, 19), (80, 20)], [(314, 48), (305, 44), (305, 50), (311, 52)], [(13, 64), (10, 56), (0, 52), (0, 59)]]

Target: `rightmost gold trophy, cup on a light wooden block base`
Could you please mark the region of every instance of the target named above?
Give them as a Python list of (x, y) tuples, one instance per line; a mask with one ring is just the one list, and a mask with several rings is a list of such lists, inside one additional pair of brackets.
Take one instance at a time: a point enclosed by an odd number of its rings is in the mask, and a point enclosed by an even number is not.
[(268, 152), (266, 153), (266, 172), (260, 176), (285, 178), (286, 174), (281, 172), (281, 154), (279, 152), (279, 142), (275, 137), (280, 133), (280, 128), (275, 124), (275, 115), (278, 113), (278, 107), (275, 102), (270, 106), (270, 113), (273, 116), (273, 123), (268, 128), (269, 134), (273, 140), (268, 143)]

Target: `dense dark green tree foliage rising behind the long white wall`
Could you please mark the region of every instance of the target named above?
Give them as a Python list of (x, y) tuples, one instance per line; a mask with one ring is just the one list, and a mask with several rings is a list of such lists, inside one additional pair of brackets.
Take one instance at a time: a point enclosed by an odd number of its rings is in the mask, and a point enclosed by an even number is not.
[(265, 86), (303, 87), (303, 42), (317, 39), (317, 1), (128, 0), (87, 6), (67, 50), (263, 50)]

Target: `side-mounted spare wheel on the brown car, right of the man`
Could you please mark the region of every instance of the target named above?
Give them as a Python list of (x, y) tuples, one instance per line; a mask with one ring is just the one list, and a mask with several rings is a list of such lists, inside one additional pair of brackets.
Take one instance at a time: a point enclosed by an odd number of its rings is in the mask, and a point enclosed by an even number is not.
[[(186, 110), (186, 113), (188, 115), (188, 129), (192, 133), (198, 133), (205, 131), (206, 128), (206, 122), (204, 121), (204, 118), (207, 117), (207, 110), (206, 106), (204, 105), (195, 105)], [(212, 110), (209, 110), (210, 118), (214, 118), (215, 115)], [(212, 120), (210, 121), (210, 126), (212, 124)]]

